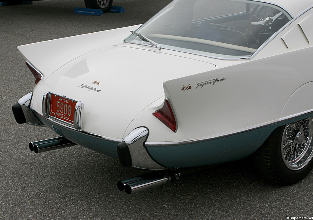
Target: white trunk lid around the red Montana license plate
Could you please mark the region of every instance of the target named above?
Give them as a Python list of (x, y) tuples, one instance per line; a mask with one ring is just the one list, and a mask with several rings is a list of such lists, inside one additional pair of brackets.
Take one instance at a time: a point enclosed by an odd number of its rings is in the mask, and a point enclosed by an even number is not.
[(105, 47), (74, 59), (46, 78), (34, 90), (31, 105), (41, 112), (42, 97), (48, 91), (79, 100), (84, 103), (82, 130), (122, 139), (136, 115), (164, 96), (164, 79), (208, 69), (215, 66), (149, 50)]

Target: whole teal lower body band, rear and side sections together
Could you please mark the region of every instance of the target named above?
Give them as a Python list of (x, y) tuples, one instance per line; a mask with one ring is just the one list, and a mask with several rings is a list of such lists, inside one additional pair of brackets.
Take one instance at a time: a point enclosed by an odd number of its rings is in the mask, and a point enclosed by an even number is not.
[[(254, 153), (275, 128), (312, 116), (313, 113), (309, 113), (254, 130), (202, 142), (145, 147), (150, 157), (166, 168), (187, 168), (226, 163), (243, 159)], [(122, 140), (109, 141), (84, 132), (64, 128), (38, 115), (37, 117), (60, 136), (99, 153), (118, 158), (117, 144)]]

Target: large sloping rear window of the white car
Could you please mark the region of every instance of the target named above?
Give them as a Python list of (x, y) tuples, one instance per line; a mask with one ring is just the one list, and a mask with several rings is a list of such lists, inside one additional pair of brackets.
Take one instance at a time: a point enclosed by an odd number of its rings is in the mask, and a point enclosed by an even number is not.
[[(247, 0), (174, 0), (126, 42), (210, 57), (251, 56), (291, 20), (282, 8)], [(151, 40), (151, 41), (149, 41)]]

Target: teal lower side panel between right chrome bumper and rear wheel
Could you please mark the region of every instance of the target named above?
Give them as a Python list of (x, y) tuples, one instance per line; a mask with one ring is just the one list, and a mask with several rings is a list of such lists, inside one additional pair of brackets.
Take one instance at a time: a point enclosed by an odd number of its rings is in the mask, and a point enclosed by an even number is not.
[(277, 124), (213, 140), (177, 145), (146, 146), (150, 156), (167, 168), (225, 163), (248, 157), (275, 130)]

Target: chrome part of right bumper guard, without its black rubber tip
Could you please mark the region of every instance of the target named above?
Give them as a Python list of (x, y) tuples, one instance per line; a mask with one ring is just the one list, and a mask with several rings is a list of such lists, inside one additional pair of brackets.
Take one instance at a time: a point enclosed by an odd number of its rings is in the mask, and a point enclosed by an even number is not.
[(131, 154), (132, 166), (143, 169), (164, 170), (166, 168), (157, 164), (144, 147), (148, 134), (147, 128), (139, 127), (123, 138)]

